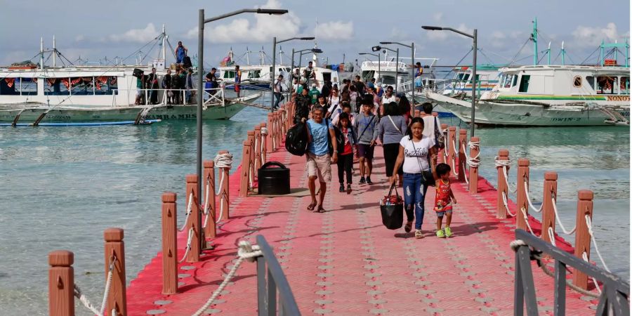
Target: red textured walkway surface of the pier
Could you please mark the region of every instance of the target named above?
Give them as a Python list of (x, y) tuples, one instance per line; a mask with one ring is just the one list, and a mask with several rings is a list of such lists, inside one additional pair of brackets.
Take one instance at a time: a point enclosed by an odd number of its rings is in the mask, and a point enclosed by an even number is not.
[[(281, 146), (283, 148), (283, 146)], [(269, 161), (291, 169), (291, 187), (307, 187), (305, 158), (284, 150)], [(162, 254), (127, 289), (129, 315), (191, 315), (222, 282), (236, 259), (237, 243), (263, 235), (274, 247), (303, 315), (513, 315), (514, 254), (509, 247), (515, 220), (496, 219), (496, 190), (485, 179), (478, 195), (454, 183), (459, 201), (449, 239), (435, 237), (435, 214), (426, 211), (425, 238), (381, 225), (378, 199), (385, 195), (382, 150), (376, 150), (374, 185), (338, 192), (334, 171), (324, 207), (306, 210), (310, 197), (237, 197), (238, 173), (230, 179), (230, 220), (218, 228), (216, 249), (199, 263), (179, 268), (179, 293), (162, 295)], [(357, 181), (357, 174), (354, 180)], [(401, 189), (400, 189), (401, 190)], [(428, 189), (426, 209), (435, 190)], [(184, 213), (184, 197), (179, 197)], [(515, 204), (510, 204), (515, 209)], [(157, 214), (158, 216), (158, 214)], [(532, 228), (539, 223), (530, 218)], [(178, 258), (186, 235), (178, 235)], [(570, 251), (562, 239), (558, 246)], [(553, 315), (553, 279), (532, 265), (541, 315)], [(567, 289), (567, 315), (594, 315), (597, 301)], [(209, 315), (255, 315), (256, 265), (243, 263)]]

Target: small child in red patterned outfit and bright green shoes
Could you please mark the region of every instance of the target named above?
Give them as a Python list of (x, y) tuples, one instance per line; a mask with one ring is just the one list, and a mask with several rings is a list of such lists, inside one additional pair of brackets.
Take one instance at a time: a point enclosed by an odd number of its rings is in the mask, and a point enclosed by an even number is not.
[[(433, 157), (434, 158), (434, 157)], [(435, 164), (432, 164), (434, 167)], [(447, 164), (437, 164), (433, 168), (435, 176), (435, 212), (437, 213), (437, 237), (447, 238), (452, 236), (450, 223), (452, 222), (452, 204), (456, 204), (456, 197), (450, 188), (450, 166)], [(441, 228), (445, 216), (445, 228)]]

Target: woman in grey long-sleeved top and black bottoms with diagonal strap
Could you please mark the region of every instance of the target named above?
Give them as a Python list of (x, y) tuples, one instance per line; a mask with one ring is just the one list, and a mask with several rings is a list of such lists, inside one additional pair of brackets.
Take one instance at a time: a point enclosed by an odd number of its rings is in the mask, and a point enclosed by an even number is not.
[(395, 160), (399, 153), (400, 140), (406, 131), (406, 120), (400, 114), (400, 110), (397, 108), (397, 103), (392, 102), (386, 104), (386, 110), (384, 117), (380, 119), (380, 122), (376, 128), (373, 136), (373, 142), (380, 140), (384, 149), (384, 162), (386, 164), (386, 176), (388, 180), (393, 182), (395, 179), (395, 173), (400, 175), (399, 184), (402, 185), (402, 169), (394, 169)]

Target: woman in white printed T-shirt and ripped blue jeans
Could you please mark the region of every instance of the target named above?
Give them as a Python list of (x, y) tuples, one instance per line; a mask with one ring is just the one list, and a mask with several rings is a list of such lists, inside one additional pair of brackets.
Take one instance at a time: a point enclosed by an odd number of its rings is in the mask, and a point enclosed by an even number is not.
[[(404, 209), (406, 210), (407, 223), (404, 226), (406, 232), (412, 229), (412, 221), (415, 220), (415, 238), (423, 238), (421, 224), (423, 223), (426, 190), (423, 171), (430, 171), (428, 156), (436, 154), (435, 142), (432, 138), (423, 136), (423, 119), (412, 119), (406, 136), (400, 141), (400, 153), (395, 161), (395, 170), (402, 166), (404, 169)], [(432, 162), (436, 164), (436, 162)], [(430, 176), (430, 180), (435, 179)], [(390, 179), (391, 185), (395, 183), (395, 177)], [(414, 214), (413, 214), (414, 209)]]

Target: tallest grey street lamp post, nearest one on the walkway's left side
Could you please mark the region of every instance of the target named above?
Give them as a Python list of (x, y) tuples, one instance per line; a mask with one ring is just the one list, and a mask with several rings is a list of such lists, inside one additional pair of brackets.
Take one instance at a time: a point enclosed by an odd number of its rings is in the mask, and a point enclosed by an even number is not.
[[(223, 18), (229, 18), (233, 15), (241, 13), (258, 13), (258, 14), (275, 14), (281, 15), (287, 13), (287, 10), (282, 9), (242, 9), (218, 15), (213, 18), (204, 18), (204, 9), (199, 9), (199, 22), (197, 31), (197, 192), (202, 192), (202, 105), (204, 104), (204, 96), (202, 95), (204, 89), (202, 88), (204, 80), (204, 24), (221, 20)], [(199, 220), (202, 221), (202, 213), (199, 213)], [(202, 243), (202, 230), (199, 230), (199, 241)], [(199, 249), (202, 249), (200, 245)]]

